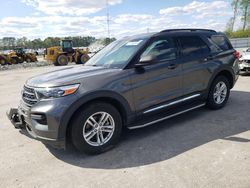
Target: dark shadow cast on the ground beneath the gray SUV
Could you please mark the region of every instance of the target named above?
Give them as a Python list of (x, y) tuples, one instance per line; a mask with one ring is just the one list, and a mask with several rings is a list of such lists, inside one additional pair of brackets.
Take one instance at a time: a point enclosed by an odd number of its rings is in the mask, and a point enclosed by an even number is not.
[(120, 169), (171, 159), (208, 142), (249, 142), (237, 134), (250, 129), (250, 93), (232, 91), (228, 105), (217, 111), (201, 108), (151, 127), (126, 132), (121, 143), (97, 156), (48, 147), (58, 159), (82, 168)]

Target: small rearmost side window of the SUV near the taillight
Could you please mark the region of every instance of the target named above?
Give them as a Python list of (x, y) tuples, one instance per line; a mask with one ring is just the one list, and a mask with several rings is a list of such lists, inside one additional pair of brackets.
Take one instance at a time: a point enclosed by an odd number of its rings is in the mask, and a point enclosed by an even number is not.
[(232, 48), (226, 37), (223, 35), (211, 35), (209, 40), (219, 51), (225, 51)]

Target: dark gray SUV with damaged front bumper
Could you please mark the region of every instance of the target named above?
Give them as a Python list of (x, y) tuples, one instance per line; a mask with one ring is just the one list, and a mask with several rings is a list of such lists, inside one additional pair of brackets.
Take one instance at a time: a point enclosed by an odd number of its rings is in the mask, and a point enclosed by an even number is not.
[(112, 148), (136, 129), (193, 109), (222, 108), (238, 78), (239, 53), (223, 33), (164, 30), (117, 40), (85, 65), (27, 80), (8, 117), (35, 139), (82, 152)]

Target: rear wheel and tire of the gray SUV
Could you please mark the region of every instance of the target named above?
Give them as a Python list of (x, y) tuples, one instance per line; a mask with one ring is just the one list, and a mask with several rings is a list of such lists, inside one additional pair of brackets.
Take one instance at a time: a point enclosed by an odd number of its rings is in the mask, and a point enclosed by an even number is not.
[(225, 76), (218, 76), (210, 87), (207, 106), (214, 110), (220, 109), (226, 105), (229, 95), (230, 84), (228, 79)]

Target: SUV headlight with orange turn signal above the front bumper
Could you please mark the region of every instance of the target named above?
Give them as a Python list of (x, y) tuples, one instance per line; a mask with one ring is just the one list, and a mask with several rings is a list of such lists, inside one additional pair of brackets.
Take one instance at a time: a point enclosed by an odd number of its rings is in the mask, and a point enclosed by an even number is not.
[(79, 86), (80, 84), (60, 87), (36, 88), (35, 92), (38, 99), (58, 98), (75, 93)]

